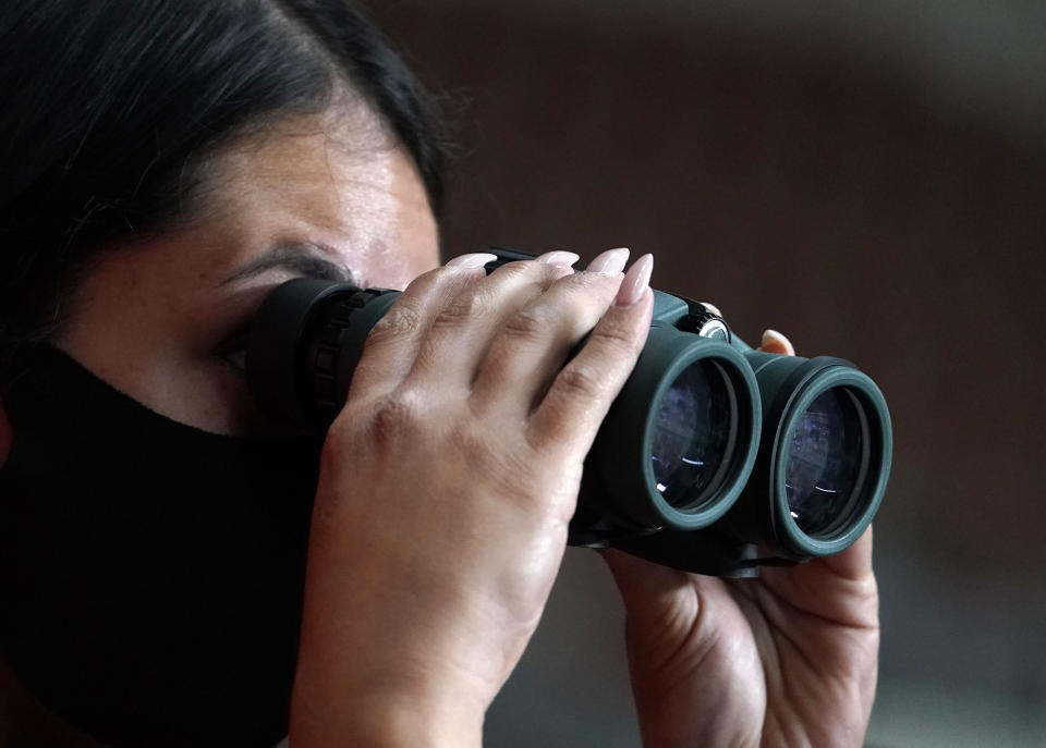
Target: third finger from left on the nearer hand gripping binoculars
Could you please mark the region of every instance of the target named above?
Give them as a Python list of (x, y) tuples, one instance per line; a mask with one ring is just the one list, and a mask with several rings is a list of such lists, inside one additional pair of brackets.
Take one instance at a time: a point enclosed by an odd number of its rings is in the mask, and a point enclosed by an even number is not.
[(570, 352), (607, 311), (627, 260), (628, 249), (604, 253), (589, 269), (560, 279), (509, 317), (476, 372), (473, 404), (530, 415)]

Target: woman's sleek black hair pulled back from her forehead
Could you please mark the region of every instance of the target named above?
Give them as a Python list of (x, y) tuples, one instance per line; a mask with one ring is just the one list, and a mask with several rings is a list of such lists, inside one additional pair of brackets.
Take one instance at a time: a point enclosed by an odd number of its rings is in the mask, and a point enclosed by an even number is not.
[(105, 243), (190, 211), (245, 128), (365, 97), (441, 197), (422, 86), (348, 0), (33, 0), (0, 8), (0, 356), (60, 320)]

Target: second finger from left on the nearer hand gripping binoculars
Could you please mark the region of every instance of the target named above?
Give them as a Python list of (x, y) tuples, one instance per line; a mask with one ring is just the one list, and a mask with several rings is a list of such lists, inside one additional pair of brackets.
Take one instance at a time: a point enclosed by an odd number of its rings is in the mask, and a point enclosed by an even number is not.
[(439, 377), (470, 388), (496, 331), (558, 279), (573, 273), (577, 255), (552, 252), (536, 261), (509, 262), (463, 289), (433, 319), (406, 381)]

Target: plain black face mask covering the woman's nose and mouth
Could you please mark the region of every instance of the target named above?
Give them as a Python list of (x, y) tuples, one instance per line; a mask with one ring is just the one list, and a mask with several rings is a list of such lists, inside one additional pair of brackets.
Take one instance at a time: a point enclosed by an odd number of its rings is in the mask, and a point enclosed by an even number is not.
[(112, 746), (287, 734), (321, 441), (178, 424), (58, 351), (3, 376), (0, 647)]

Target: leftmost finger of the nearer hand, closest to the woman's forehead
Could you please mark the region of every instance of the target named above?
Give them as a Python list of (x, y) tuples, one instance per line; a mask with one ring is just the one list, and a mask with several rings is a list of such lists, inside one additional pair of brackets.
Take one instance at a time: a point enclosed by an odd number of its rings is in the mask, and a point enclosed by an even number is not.
[(391, 392), (406, 378), (433, 318), (459, 293), (485, 275), (488, 253), (462, 255), (411, 282), (378, 320), (356, 365), (349, 397)]

